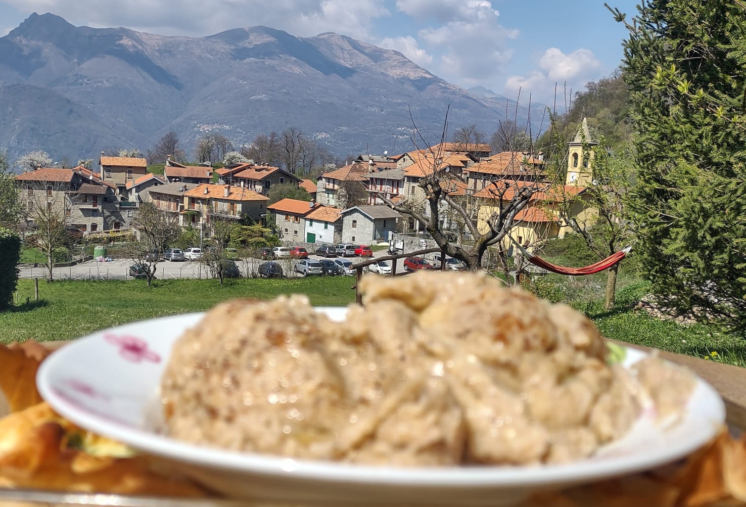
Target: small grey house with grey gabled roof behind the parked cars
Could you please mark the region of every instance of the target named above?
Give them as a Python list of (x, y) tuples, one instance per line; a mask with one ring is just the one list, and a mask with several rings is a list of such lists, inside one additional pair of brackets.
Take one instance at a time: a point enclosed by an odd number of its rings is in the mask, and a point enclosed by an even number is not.
[(372, 244), (389, 241), (401, 218), (384, 204), (342, 210), (342, 242)]

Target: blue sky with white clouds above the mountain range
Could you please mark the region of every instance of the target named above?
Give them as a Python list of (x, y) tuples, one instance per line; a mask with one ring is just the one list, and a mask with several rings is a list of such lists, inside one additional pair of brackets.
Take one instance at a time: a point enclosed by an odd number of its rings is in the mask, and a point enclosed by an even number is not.
[[(631, 15), (636, 1), (609, 4)], [(252, 25), (334, 31), (401, 51), (459, 86), (545, 102), (555, 84), (577, 90), (609, 75), (625, 36), (603, 0), (0, 0), (0, 35), (32, 12), (192, 37)]]

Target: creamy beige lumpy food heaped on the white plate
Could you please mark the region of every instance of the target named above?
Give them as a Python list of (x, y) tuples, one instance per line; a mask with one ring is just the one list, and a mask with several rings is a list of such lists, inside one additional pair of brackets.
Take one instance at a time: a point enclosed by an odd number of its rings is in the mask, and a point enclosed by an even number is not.
[(694, 378), (607, 362), (588, 318), (485, 274), (364, 277), (335, 322), (306, 297), (232, 300), (176, 342), (164, 431), (194, 444), (401, 466), (570, 462)]

